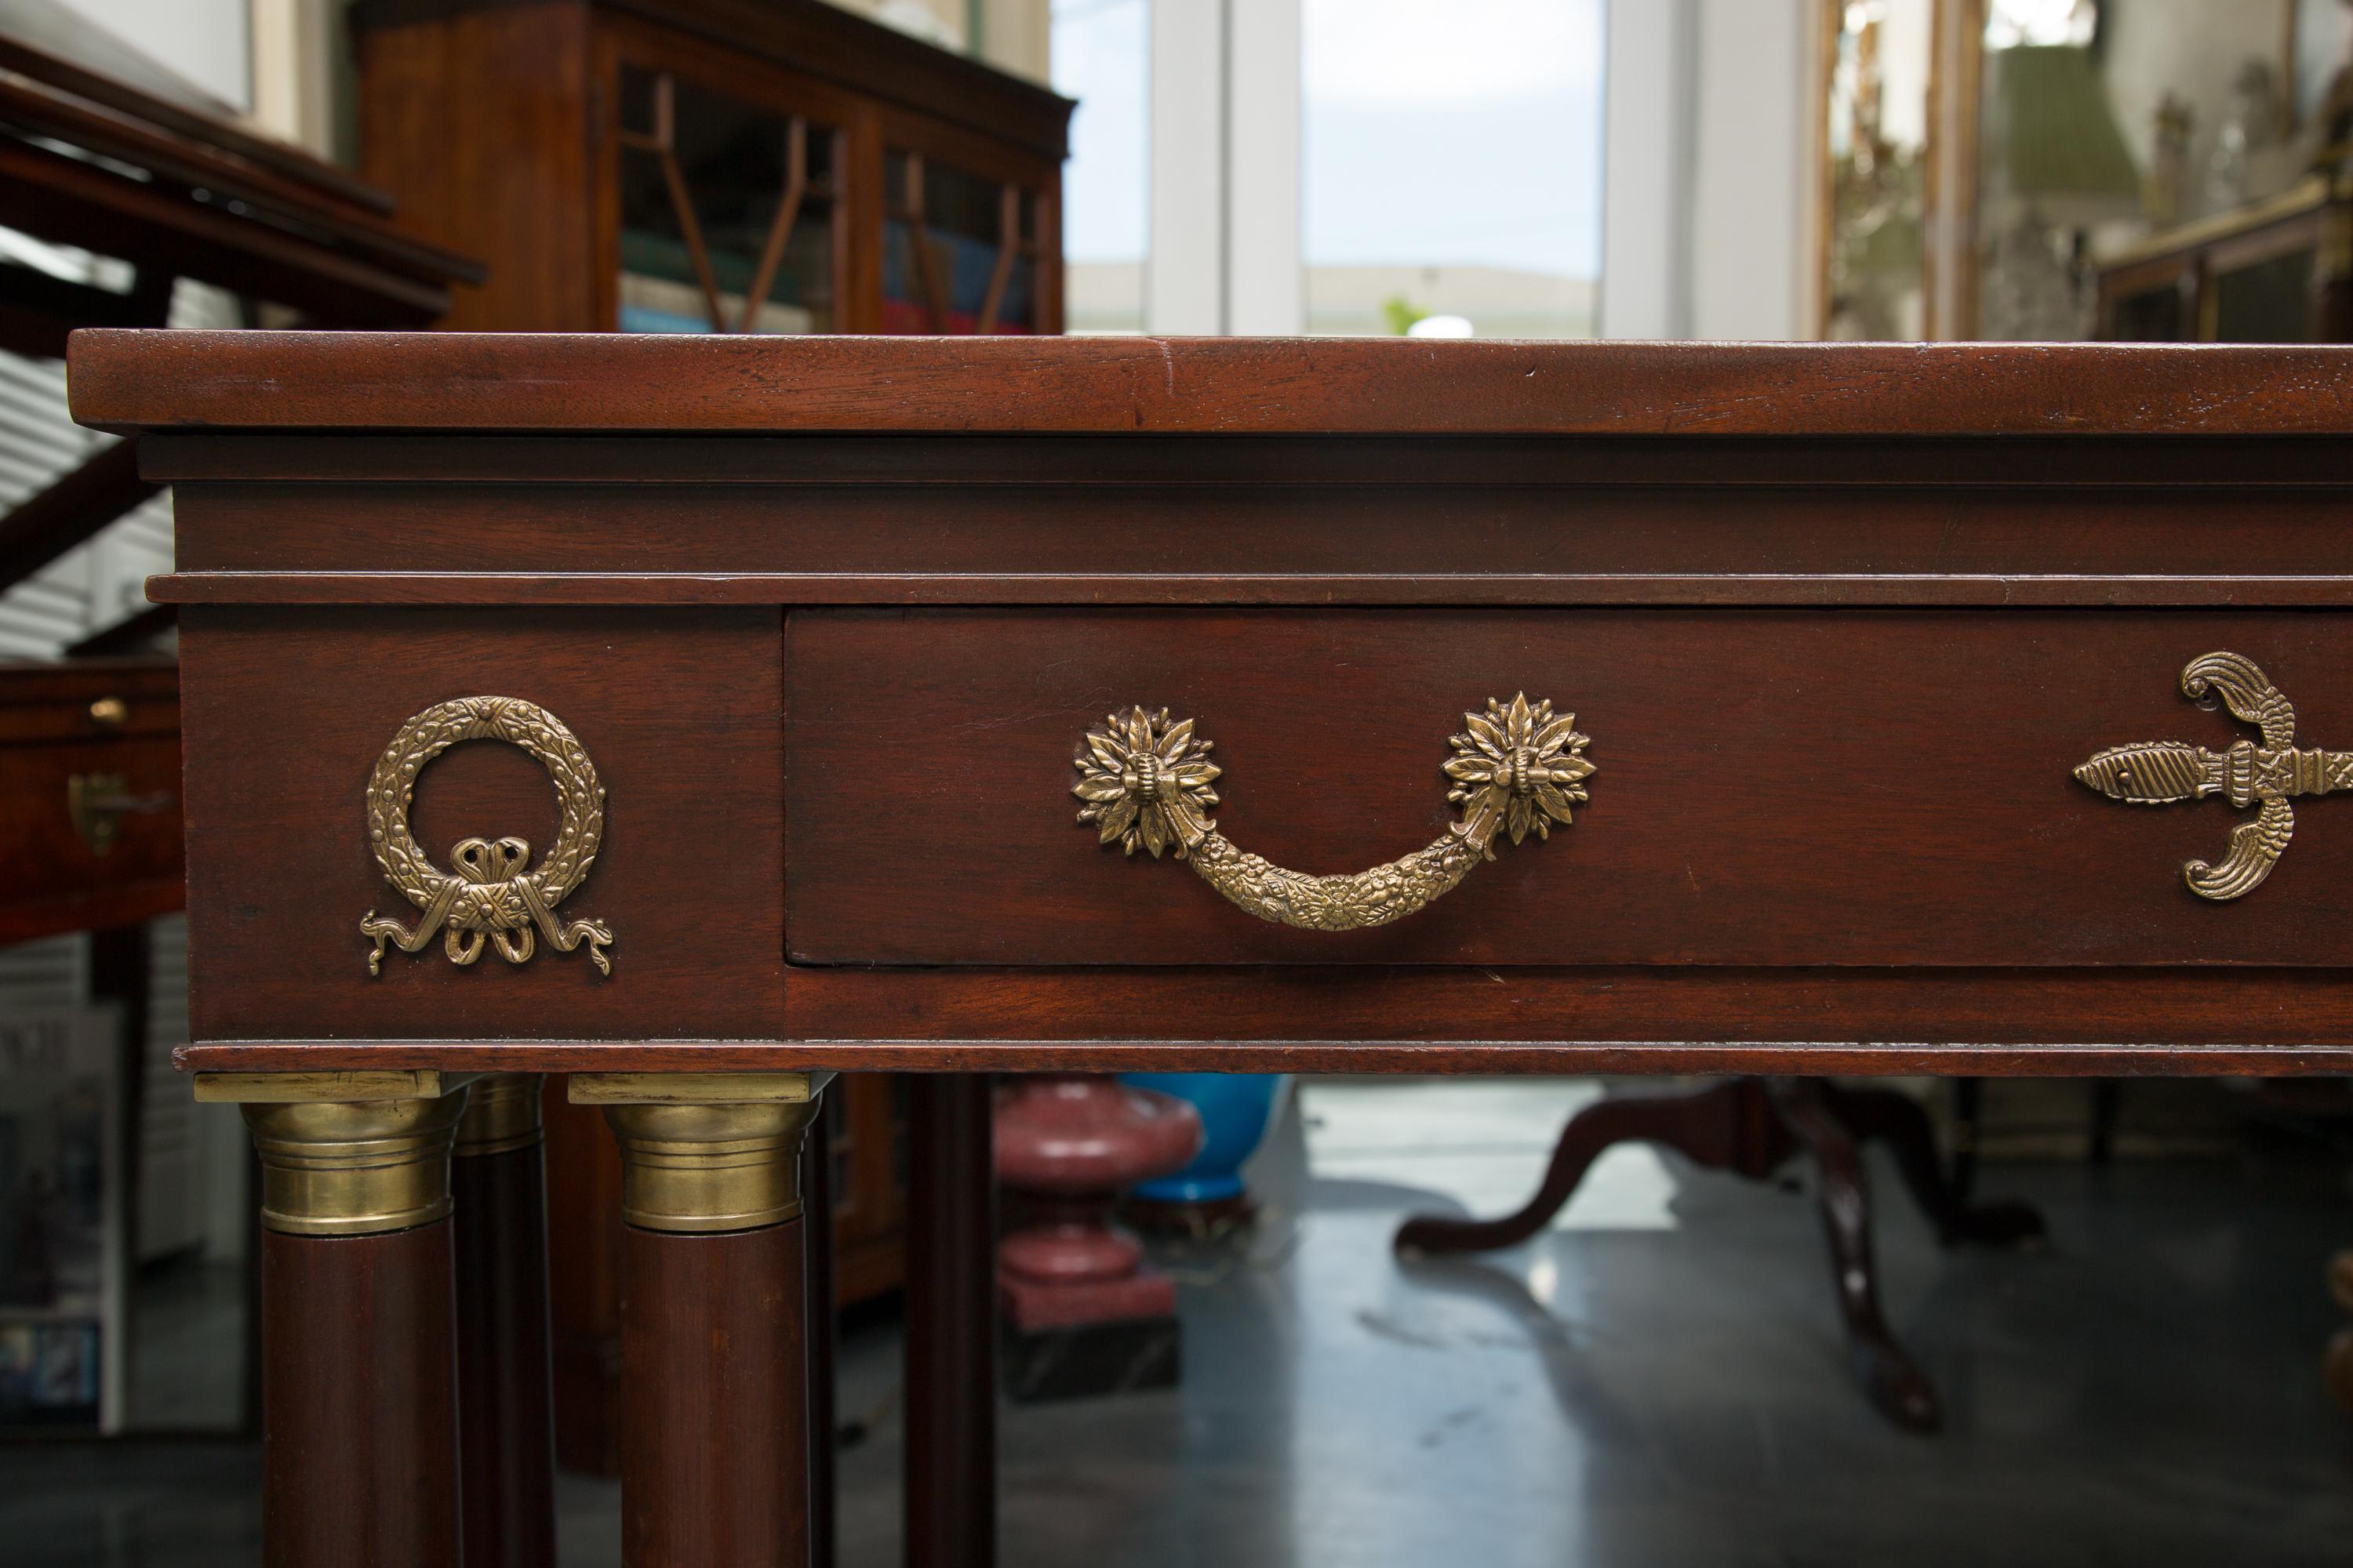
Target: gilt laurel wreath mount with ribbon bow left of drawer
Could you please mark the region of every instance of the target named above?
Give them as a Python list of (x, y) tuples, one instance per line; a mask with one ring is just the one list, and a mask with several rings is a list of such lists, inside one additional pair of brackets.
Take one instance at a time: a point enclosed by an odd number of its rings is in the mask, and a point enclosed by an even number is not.
[[(459, 839), (449, 849), (456, 867), (452, 875), (433, 865), (409, 835), (416, 773), (461, 741), (506, 741), (548, 769), (562, 816), (555, 846), (536, 870), (527, 870), (532, 846), (525, 839)], [(376, 851), (384, 879), (424, 910), (424, 919), (409, 929), (369, 910), (360, 919), (360, 933), (376, 940), (376, 950), (367, 954), (367, 973), (381, 971), (386, 943), (419, 952), (435, 931), (442, 933), (442, 952), (452, 964), (473, 964), (485, 943), (496, 945), (508, 964), (522, 964), (536, 950), (536, 936), (546, 936), (558, 952), (588, 943), (598, 971), (612, 973), (612, 959), (605, 957), (612, 929), (605, 922), (555, 919), (555, 905), (588, 877), (602, 842), (605, 785), (562, 719), (513, 696), (461, 696), (426, 708), (400, 726), (367, 780), (367, 844)]]

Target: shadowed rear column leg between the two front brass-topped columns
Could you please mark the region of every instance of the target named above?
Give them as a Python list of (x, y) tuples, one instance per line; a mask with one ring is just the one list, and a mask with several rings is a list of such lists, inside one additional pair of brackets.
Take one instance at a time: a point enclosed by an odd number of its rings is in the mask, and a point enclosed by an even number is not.
[(466, 1568), (555, 1563), (548, 1190), (539, 1091), (536, 1072), (475, 1079), (449, 1166)]

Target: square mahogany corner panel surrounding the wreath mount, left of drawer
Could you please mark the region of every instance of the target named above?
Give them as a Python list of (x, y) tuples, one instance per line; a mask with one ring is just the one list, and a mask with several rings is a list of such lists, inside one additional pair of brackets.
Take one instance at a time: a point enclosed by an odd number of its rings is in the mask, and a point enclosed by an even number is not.
[[(198, 1039), (776, 1032), (776, 611), (200, 609), (181, 668)], [(440, 938), (367, 973), (360, 917), (416, 914), (369, 853), (367, 776), (409, 715), (475, 693), (548, 708), (595, 762), (605, 846), (558, 912), (612, 924), (612, 976), (546, 943), (459, 969)], [(518, 748), (459, 745), (409, 823), (442, 870), (468, 835), (544, 856), (555, 790)]]

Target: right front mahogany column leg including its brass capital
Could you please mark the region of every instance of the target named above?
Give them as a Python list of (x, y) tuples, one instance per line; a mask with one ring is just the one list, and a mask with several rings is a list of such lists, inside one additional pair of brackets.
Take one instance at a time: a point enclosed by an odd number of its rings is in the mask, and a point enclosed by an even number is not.
[[(800, 1074), (574, 1077), (621, 1145), (621, 1561), (809, 1552)], [(748, 1098), (760, 1086), (776, 1098)], [(614, 1088), (616, 1086), (616, 1088)], [(784, 1098), (784, 1095), (798, 1098)], [(732, 1095), (732, 1098), (718, 1098)]]

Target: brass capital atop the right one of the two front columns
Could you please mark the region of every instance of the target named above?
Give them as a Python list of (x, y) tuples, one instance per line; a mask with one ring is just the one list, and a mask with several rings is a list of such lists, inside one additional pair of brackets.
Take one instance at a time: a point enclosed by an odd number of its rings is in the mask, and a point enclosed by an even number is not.
[(621, 1218), (720, 1232), (800, 1215), (800, 1135), (816, 1100), (607, 1105), (621, 1143)]

